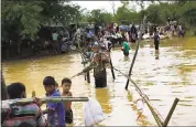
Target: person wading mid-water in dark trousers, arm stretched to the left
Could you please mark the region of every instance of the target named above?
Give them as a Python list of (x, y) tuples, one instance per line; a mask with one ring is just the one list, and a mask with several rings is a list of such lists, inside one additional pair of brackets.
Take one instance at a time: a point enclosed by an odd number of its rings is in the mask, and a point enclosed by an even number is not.
[[(109, 63), (109, 55), (99, 49), (99, 44), (95, 43), (92, 46), (90, 65), (85, 67), (81, 73), (86, 73), (94, 68), (94, 77), (96, 87), (107, 86), (106, 64)], [(79, 73), (78, 75), (80, 75)]]

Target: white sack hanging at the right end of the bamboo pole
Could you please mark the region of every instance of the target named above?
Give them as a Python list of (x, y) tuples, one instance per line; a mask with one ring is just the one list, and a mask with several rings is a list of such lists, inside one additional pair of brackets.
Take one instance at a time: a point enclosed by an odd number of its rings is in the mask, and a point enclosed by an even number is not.
[(84, 105), (84, 123), (85, 126), (97, 125), (105, 119), (102, 108), (96, 99), (89, 98)]

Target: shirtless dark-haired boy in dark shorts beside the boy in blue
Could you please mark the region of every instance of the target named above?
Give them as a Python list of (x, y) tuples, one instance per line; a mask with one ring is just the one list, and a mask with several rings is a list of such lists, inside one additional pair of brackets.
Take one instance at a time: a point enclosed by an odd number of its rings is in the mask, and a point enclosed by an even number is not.
[[(69, 78), (63, 78), (62, 80), (62, 87), (63, 87), (63, 94), (62, 96), (72, 97), (70, 91), (72, 81)], [(66, 124), (73, 123), (73, 110), (72, 110), (72, 102), (65, 102), (65, 121)]]

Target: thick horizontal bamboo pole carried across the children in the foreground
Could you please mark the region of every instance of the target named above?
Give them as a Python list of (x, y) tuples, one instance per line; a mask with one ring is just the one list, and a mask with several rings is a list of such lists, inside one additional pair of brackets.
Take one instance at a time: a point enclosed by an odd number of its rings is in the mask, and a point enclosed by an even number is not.
[[(88, 97), (42, 97), (42, 103), (61, 103), (61, 102), (88, 102)], [(19, 99), (7, 99), (2, 103), (9, 103), (10, 105), (24, 105), (33, 103), (34, 98), (19, 98)]]

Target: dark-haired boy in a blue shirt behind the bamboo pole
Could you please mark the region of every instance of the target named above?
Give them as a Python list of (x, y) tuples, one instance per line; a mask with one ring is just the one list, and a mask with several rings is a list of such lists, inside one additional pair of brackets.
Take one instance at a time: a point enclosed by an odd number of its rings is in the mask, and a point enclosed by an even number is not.
[[(43, 81), (43, 85), (47, 97), (61, 96), (59, 92), (55, 87), (56, 82), (54, 77), (46, 76)], [(63, 103), (47, 103), (46, 110), (43, 113), (47, 114), (47, 124), (50, 127), (65, 127), (65, 108)]]

